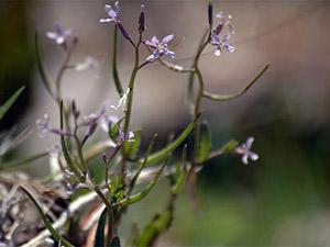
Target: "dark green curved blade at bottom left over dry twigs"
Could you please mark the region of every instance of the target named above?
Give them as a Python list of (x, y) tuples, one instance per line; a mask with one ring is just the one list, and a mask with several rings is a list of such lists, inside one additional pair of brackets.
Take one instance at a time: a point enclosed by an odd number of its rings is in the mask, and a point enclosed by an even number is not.
[(61, 245), (65, 247), (74, 247), (67, 239), (65, 239), (61, 234), (53, 227), (52, 223), (50, 222), (47, 215), (43, 212), (42, 207), (38, 205), (36, 200), (33, 198), (33, 195), (22, 186), (20, 186), (21, 190), (28, 195), (30, 201), (34, 204), (35, 209), (37, 210), (40, 216), (42, 217), (46, 228), (51, 232), (53, 237), (56, 242), (61, 242)]

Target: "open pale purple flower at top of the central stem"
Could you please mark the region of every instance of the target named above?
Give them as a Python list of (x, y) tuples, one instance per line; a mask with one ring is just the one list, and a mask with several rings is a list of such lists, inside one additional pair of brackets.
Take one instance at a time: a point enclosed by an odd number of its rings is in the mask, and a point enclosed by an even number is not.
[(169, 58), (175, 58), (175, 53), (170, 52), (167, 48), (167, 43), (170, 42), (173, 40), (174, 35), (169, 34), (167, 36), (165, 36), (162, 42), (158, 41), (158, 38), (156, 36), (153, 36), (152, 40), (150, 41), (145, 41), (145, 45), (152, 47), (154, 49), (153, 54), (150, 55), (146, 60), (148, 63), (153, 63), (154, 60), (156, 60), (157, 58), (160, 58), (161, 56), (165, 55)]

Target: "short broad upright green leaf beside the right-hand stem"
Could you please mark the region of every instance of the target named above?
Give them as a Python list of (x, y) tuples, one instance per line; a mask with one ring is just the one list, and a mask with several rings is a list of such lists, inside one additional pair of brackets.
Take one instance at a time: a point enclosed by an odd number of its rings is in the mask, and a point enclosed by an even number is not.
[(200, 124), (197, 161), (205, 162), (212, 148), (211, 133), (206, 122)]

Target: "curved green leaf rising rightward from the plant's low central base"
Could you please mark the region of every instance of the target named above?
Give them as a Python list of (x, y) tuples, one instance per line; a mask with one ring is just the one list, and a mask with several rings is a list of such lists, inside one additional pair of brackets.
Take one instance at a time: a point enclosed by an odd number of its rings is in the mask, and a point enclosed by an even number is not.
[(169, 156), (164, 160), (161, 169), (158, 170), (158, 172), (156, 173), (155, 178), (145, 187), (145, 189), (143, 191), (141, 191), (140, 193), (138, 194), (134, 194), (134, 195), (131, 195), (129, 198), (125, 198), (123, 200), (121, 200), (120, 202), (118, 203), (114, 203), (113, 204), (113, 207), (116, 206), (123, 206), (123, 205), (129, 205), (129, 204), (133, 204), (135, 202), (139, 202), (141, 201), (142, 199), (144, 199), (148, 192), (152, 191), (152, 189), (155, 187), (155, 184), (157, 183), (164, 168), (166, 167), (167, 165), (167, 160), (168, 160)]

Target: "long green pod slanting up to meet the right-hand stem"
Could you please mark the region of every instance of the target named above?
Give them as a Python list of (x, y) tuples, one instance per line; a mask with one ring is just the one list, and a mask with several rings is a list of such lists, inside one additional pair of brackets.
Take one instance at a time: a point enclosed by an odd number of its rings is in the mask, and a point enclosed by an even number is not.
[[(145, 166), (147, 167), (154, 165), (174, 151), (187, 138), (187, 136), (194, 130), (195, 124), (196, 120), (190, 123), (174, 142), (168, 144), (163, 149), (150, 155)], [(140, 162), (142, 164), (143, 159), (141, 159)]]

